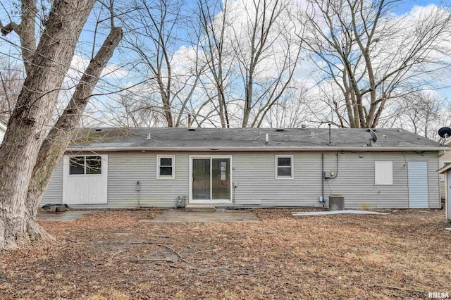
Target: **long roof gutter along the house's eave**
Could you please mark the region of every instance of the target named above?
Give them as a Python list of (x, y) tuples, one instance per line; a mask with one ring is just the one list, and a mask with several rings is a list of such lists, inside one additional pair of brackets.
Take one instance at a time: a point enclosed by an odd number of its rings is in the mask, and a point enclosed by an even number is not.
[(338, 147), (338, 146), (319, 146), (311, 147), (159, 147), (159, 146), (135, 146), (135, 147), (68, 147), (66, 152), (113, 152), (113, 151), (443, 151), (450, 149), (447, 146), (437, 147), (377, 147), (377, 146), (362, 146), (362, 147)]

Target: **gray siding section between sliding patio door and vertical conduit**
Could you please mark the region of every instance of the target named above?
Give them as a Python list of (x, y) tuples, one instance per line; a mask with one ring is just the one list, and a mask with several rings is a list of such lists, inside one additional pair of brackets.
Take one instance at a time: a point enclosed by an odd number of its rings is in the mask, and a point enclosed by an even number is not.
[[(276, 179), (276, 155), (293, 156), (294, 178)], [(243, 152), (233, 154), (237, 206), (317, 206), (321, 204), (321, 153)]]

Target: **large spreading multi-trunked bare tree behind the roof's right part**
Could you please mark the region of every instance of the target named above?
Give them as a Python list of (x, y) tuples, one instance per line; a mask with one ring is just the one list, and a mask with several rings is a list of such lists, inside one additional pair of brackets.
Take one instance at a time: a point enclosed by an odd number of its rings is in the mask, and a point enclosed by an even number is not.
[(331, 107), (340, 127), (376, 127), (389, 99), (424, 88), (444, 67), (434, 55), (449, 37), (451, 14), (431, 8), (409, 20), (393, 15), (399, 2), (309, 0), (308, 13), (299, 13), (319, 82), (342, 94)]

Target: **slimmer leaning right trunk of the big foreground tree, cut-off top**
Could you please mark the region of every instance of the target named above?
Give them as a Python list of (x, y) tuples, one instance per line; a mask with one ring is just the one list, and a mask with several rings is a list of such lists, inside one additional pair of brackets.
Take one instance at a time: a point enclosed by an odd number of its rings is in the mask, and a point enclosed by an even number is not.
[(80, 123), (83, 111), (88, 104), (94, 87), (106, 64), (113, 56), (114, 49), (121, 42), (123, 31), (121, 27), (114, 27), (106, 37), (96, 56), (90, 61), (85, 73), (80, 79), (68, 106), (50, 130), (47, 139), (42, 143), (37, 156), (37, 163), (33, 169), (32, 179), (27, 193), (27, 213), (30, 213), (29, 223), (35, 223), (37, 208), (51, 180), (56, 166), (64, 155), (75, 127)]

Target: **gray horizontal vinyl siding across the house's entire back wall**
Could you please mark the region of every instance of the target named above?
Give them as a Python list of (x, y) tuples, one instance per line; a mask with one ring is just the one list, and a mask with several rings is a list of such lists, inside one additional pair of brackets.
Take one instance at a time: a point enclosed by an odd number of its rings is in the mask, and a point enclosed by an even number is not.
[[(177, 196), (189, 196), (190, 155), (233, 156), (233, 205), (321, 207), (321, 152), (110, 152), (108, 204), (73, 208), (173, 207)], [(156, 179), (156, 156), (175, 156), (175, 179)], [(276, 179), (276, 155), (294, 157), (294, 178)], [(346, 208), (408, 208), (408, 161), (428, 162), (431, 208), (440, 208), (438, 152), (340, 152), (338, 176), (324, 182), (324, 196), (343, 194)], [(393, 185), (374, 185), (374, 161), (393, 161)], [(324, 170), (337, 170), (336, 152), (324, 153)], [(61, 165), (61, 164), (60, 164)], [(58, 166), (58, 168), (60, 168)], [(62, 166), (52, 177), (43, 204), (61, 203)], [(140, 181), (141, 191), (136, 191)], [(51, 189), (50, 189), (51, 188)], [(139, 196), (138, 196), (139, 195)], [(230, 204), (229, 204), (230, 205)]]

